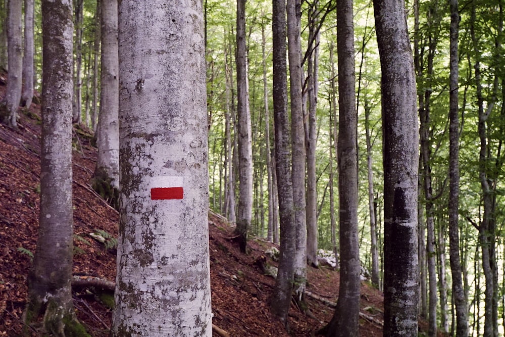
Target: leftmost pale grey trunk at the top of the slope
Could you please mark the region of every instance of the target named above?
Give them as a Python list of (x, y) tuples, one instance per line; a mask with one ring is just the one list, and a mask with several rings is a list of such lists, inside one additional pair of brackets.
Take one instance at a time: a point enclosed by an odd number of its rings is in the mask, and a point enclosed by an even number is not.
[(5, 92), (5, 107), (0, 107), (0, 122), (17, 129), (17, 111), (21, 100), (23, 46), (21, 43), (21, 0), (9, 0), (7, 14), (7, 40), (9, 74)]

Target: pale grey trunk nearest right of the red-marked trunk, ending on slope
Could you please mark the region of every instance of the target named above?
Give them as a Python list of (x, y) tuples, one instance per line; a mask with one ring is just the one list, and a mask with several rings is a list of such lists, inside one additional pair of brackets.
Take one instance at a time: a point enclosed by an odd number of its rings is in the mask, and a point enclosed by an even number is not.
[(238, 171), (239, 197), (237, 212), (238, 242), (245, 253), (247, 230), (252, 218), (252, 133), (249, 110), (249, 85), (247, 81), (247, 55), (245, 46), (245, 2), (237, 1), (237, 114), (238, 114)]

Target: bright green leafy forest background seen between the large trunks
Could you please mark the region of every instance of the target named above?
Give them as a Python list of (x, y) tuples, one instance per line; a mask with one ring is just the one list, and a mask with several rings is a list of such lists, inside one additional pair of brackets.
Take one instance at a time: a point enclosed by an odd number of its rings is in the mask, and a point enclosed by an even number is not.
[[(303, 2), (305, 133), (315, 121), (317, 247), (338, 252), (336, 156), (338, 130), (335, 1)], [(407, 2), (417, 75), (420, 116), (419, 259), (421, 315), (435, 303), (435, 323), (455, 331), (455, 307), (448, 261), (449, 25), (445, 1)], [(252, 138), (253, 205), (249, 232), (279, 241), (272, 109), (272, 28), (270, 2), (245, 7), (247, 79)], [(74, 122), (96, 128), (100, 86), (100, 30), (96, 1), (75, 0)], [(205, 2), (211, 208), (234, 220), (238, 195), (235, 2)], [(496, 333), (505, 326), (505, 240), (503, 240), (503, 153), (505, 77), (501, 1), (459, 4), (459, 237), (465, 296), (472, 335), (485, 318)], [(0, 2), (0, 67), (7, 69), (7, 1)], [(371, 2), (354, 3), (360, 258), (382, 288), (383, 175), (381, 69)], [(34, 87), (41, 85), (41, 11), (34, 2)], [(316, 78), (310, 86), (310, 78)], [(311, 93), (312, 91), (312, 93)], [(308, 103), (313, 94), (312, 102)], [(315, 106), (311, 115), (309, 107)], [(300, 135), (301, 136), (301, 135)], [(308, 162), (308, 165), (309, 162)], [(308, 187), (309, 187), (309, 183)], [(309, 189), (308, 189), (309, 192)], [(373, 221), (374, 219), (375, 221)], [(308, 226), (311, 224), (308, 223)], [(376, 242), (373, 238), (375, 233)], [(377, 254), (377, 268), (373, 256)], [(430, 269), (431, 268), (431, 269)], [(491, 297), (486, 297), (486, 291)], [(488, 293), (489, 294), (489, 293)], [(492, 301), (485, 312), (486, 298)], [(432, 307), (430, 307), (430, 302)], [(501, 321), (501, 324), (498, 322)], [(498, 325), (501, 327), (498, 329)]]

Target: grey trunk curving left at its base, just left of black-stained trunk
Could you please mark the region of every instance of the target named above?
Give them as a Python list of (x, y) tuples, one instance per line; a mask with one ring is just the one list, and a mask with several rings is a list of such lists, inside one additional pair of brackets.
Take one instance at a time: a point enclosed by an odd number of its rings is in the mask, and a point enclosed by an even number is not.
[(352, 0), (342, 0), (337, 3), (340, 287), (337, 307), (329, 323), (327, 336), (358, 335), (360, 315), (358, 114), (352, 12)]

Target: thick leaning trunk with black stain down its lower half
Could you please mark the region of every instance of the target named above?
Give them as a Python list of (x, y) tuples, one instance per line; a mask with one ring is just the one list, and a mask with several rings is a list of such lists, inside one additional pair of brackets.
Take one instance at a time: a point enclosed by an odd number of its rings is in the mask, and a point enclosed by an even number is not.
[(419, 132), (405, 5), (375, 0), (382, 69), (384, 336), (418, 334)]

